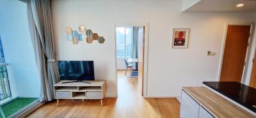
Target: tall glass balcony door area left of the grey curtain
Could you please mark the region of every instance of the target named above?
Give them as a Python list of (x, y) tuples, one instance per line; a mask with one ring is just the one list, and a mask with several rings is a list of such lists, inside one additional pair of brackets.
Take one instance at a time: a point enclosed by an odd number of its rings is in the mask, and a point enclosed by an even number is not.
[(28, 4), (1, 1), (0, 11), (0, 117), (20, 117), (40, 104), (41, 94)]

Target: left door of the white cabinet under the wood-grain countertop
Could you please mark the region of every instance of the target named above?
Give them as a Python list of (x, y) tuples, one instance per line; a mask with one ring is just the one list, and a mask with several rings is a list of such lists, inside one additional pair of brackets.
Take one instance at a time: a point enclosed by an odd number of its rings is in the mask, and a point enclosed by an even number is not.
[(186, 92), (181, 92), (180, 117), (198, 118), (200, 105), (193, 100)]

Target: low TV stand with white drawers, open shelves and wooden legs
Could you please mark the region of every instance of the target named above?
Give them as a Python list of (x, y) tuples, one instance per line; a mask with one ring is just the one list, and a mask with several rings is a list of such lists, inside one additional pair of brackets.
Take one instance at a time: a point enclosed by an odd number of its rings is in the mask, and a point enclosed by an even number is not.
[(95, 81), (83, 81), (90, 82), (91, 84), (86, 84), (83, 82), (74, 82), (62, 84), (62, 82), (72, 82), (72, 81), (61, 81), (54, 84), (54, 94), (57, 100), (57, 106), (59, 106), (59, 101), (61, 99), (96, 99), (100, 100), (101, 106), (103, 106), (103, 98), (106, 99), (106, 82), (103, 80)]

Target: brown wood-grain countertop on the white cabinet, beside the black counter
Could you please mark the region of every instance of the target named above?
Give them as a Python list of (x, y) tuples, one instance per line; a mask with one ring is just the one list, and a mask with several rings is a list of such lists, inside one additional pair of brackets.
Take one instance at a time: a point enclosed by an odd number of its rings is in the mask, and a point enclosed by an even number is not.
[(214, 115), (214, 117), (255, 117), (205, 87), (182, 87), (182, 89)]

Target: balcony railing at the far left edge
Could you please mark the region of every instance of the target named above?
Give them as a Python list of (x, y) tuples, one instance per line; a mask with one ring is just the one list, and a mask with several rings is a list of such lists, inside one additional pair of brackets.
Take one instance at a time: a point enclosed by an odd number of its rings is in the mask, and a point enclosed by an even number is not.
[(8, 65), (0, 64), (0, 101), (12, 96), (6, 68)]

